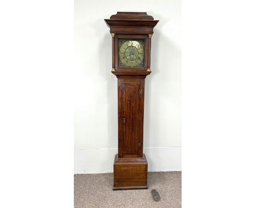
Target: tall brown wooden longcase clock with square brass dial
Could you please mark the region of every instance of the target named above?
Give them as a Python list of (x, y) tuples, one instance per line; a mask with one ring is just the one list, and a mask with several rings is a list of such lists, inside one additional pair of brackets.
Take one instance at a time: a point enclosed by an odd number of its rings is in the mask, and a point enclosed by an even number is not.
[(118, 78), (113, 190), (148, 188), (148, 162), (143, 154), (144, 83), (151, 73), (151, 38), (158, 20), (147, 13), (118, 12), (105, 22), (112, 35), (112, 73)]

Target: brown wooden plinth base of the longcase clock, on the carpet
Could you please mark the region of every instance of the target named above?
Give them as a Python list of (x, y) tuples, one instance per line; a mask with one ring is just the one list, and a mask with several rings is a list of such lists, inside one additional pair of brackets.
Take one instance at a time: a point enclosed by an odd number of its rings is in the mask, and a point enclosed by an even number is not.
[(120, 158), (115, 155), (113, 190), (146, 189), (148, 179), (148, 162), (146, 156)]

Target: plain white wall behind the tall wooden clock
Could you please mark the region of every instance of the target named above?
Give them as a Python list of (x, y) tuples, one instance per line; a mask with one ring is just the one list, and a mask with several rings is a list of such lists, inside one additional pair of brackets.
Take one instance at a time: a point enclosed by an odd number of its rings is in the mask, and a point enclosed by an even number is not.
[(146, 78), (144, 153), (149, 171), (181, 170), (181, 1), (74, 0), (74, 173), (113, 172), (118, 150), (117, 77), (104, 19), (146, 11), (160, 20)]

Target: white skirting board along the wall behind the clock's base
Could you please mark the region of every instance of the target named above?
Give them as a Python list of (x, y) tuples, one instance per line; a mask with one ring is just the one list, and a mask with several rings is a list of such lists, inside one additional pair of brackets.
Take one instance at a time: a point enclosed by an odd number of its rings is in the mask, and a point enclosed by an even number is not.
[[(74, 150), (74, 174), (112, 173), (117, 148)], [(181, 171), (181, 147), (143, 148), (148, 171)]]

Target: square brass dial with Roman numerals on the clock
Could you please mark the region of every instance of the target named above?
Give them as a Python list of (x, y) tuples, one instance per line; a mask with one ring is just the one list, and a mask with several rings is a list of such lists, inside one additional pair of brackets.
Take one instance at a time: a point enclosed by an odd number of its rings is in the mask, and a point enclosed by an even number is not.
[(144, 67), (144, 40), (119, 39), (119, 67)]

